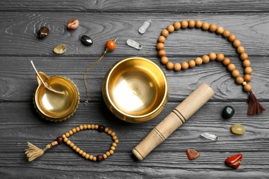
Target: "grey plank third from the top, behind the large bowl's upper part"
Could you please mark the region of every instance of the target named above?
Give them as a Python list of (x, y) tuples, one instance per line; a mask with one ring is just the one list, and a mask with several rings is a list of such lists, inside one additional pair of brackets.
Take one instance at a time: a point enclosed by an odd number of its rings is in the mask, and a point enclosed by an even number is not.
[[(117, 51), (109, 52), (105, 58), (88, 71), (87, 81), (90, 91), (90, 101), (103, 101), (101, 87), (103, 78), (110, 66), (119, 59), (128, 57), (118, 56)], [(169, 101), (182, 101), (199, 84), (207, 83), (215, 91), (212, 101), (241, 101), (246, 103), (248, 95), (243, 92), (241, 85), (235, 83), (234, 78), (226, 67), (217, 61), (203, 64), (186, 71), (174, 72), (166, 70), (155, 56), (146, 56), (155, 61), (166, 73), (169, 85)], [(79, 87), (81, 103), (86, 100), (86, 89), (83, 84), (83, 73), (86, 68), (94, 63), (99, 56), (59, 56), (59, 57), (3, 57), (0, 56), (0, 101), (32, 101), (32, 94), (37, 87), (35, 72), (30, 64), (34, 61), (35, 66), (48, 76), (63, 75), (72, 79)], [(195, 59), (195, 56), (184, 56), (183, 59)], [(238, 57), (230, 58), (237, 69), (243, 74), (243, 67)], [(171, 61), (176, 61), (171, 58)], [(181, 63), (182, 60), (179, 60)], [(253, 56), (250, 59), (253, 68), (251, 85), (253, 92), (261, 101), (268, 101), (269, 94), (266, 84), (268, 79), (268, 58)], [(60, 65), (59, 65), (60, 64)]]

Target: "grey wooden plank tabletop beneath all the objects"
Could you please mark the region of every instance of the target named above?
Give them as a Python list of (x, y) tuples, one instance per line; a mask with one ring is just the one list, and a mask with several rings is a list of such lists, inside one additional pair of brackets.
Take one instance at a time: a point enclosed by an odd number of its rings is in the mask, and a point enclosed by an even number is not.
[[(0, 1), (0, 178), (269, 178), (269, 1)], [(66, 23), (79, 19), (77, 30)], [(146, 34), (139, 26), (151, 19)], [(253, 92), (266, 111), (248, 116), (248, 94), (226, 67), (210, 61), (180, 72), (161, 65), (155, 46), (161, 30), (175, 21), (201, 20), (230, 30), (246, 49), (251, 61)], [(46, 39), (38, 39), (41, 26), (50, 28)], [(94, 41), (81, 44), (81, 35)], [(109, 52), (87, 76), (90, 104), (86, 100), (83, 72), (101, 56), (105, 43), (119, 36), (117, 49)], [(143, 45), (136, 50), (126, 45), (133, 39)], [(67, 45), (64, 54), (54, 54), (59, 43)], [(231, 43), (215, 33), (200, 29), (173, 32), (166, 41), (170, 61), (182, 63), (210, 52), (223, 53), (241, 73), (239, 54)], [(155, 61), (166, 73), (169, 99), (161, 114), (147, 123), (125, 123), (109, 112), (103, 103), (101, 85), (106, 72), (119, 59), (143, 56)], [(32, 94), (37, 87), (34, 70), (48, 76), (63, 75), (79, 87), (81, 103), (77, 113), (61, 123), (48, 122), (34, 110)], [(144, 160), (132, 156), (132, 148), (165, 118), (170, 111), (201, 83), (214, 89), (213, 96), (194, 116), (177, 129)], [(226, 105), (235, 108), (229, 120), (221, 117)], [(45, 147), (57, 136), (83, 124), (103, 124), (117, 133), (119, 145), (112, 156), (92, 162), (76, 154), (67, 145), (58, 145), (28, 162), (27, 142)], [(237, 136), (230, 126), (240, 123), (246, 133)], [(210, 141), (200, 134), (217, 134)], [(111, 140), (98, 132), (79, 132), (72, 140), (89, 154), (103, 154)], [(186, 149), (201, 156), (188, 160)], [(228, 156), (243, 154), (239, 169), (224, 164)]]

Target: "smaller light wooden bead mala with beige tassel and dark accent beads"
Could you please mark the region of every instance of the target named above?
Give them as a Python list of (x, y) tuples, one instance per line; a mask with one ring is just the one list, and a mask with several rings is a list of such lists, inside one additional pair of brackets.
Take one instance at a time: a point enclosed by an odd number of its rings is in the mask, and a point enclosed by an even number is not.
[[(110, 150), (106, 151), (106, 154), (92, 156), (90, 154), (87, 154), (86, 151), (83, 151), (82, 149), (80, 149), (79, 147), (74, 145), (74, 143), (72, 143), (71, 140), (68, 139), (68, 137), (72, 136), (74, 133), (77, 133), (81, 130), (86, 130), (86, 129), (97, 129), (99, 132), (104, 131), (112, 137), (112, 140), (114, 140), (114, 142), (112, 143)], [(86, 159), (92, 160), (92, 161), (100, 162), (101, 160), (106, 159), (106, 158), (108, 158), (108, 156), (114, 154), (114, 150), (116, 149), (117, 144), (119, 143), (119, 139), (117, 138), (116, 133), (114, 133), (114, 131), (108, 129), (108, 127), (105, 127), (103, 125), (94, 125), (94, 124), (92, 124), (92, 125), (90, 125), (90, 124), (89, 125), (79, 125), (78, 127), (74, 127), (70, 131), (66, 132), (66, 134), (63, 134), (62, 136), (57, 137), (57, 139), (54, 142), (46, 145), (46, 147), (43, 149), (39, 149), (35, 145), (28, 143), (29, 148), (26, 149), (26, 156), (28, 157), (28, 161), (31, 162), (32, 160), (38, 158), (39, 156), (42, 156), (43, 153), (47, 149), (50, 149), (51, 147), (58, 145), (60, 143), (63, 143), (63, 142), (66, 143), (67, 145), (69, 145), (69, 147), (71, 147), (74, 151), (76, 151), (83, 158), (86, 158)]]

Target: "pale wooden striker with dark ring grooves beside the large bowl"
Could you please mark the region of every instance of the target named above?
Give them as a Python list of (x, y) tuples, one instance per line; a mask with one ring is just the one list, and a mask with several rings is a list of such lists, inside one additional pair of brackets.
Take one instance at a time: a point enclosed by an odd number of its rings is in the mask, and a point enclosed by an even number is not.
[(186, 122), (192, 114), (195, 114), (213, 94), (214, 92), (211, 87), (206, 85), (206, 83), (201, 84), (190, 96), (173, 109), (159, 125), (153, 128), (137, 147), (132, 149), (132, 154), (134, 154), (138, 160), (143, 160), (143, 158), (150, 154), (150, 151), (166, 140), (166, 138), (168, 138), (175, 129)]

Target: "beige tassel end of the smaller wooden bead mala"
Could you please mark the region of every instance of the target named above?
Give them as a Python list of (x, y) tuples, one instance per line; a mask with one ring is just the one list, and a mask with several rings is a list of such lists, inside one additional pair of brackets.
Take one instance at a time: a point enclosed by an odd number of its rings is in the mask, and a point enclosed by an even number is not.
[(44, 154), (44, 152), (47, 149), (50, 149), (50, 147), (53, 147), (54, 145), (57, 145), (57, 141), (54, 141), (53, 143), (50, 143), (43, 149), (39, 149), (39, 147), (33, 145), (32, 143), (28, 142), (28, 149), (26, 149), (26, 156), (28, 157), (28, 162), (32, 162), (32, 160), (39, 158)]

